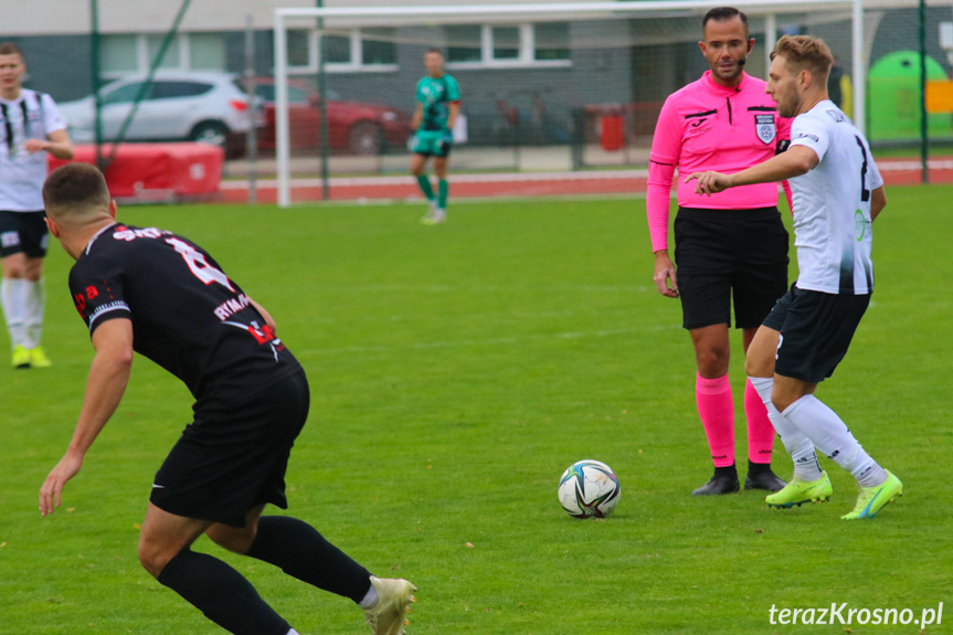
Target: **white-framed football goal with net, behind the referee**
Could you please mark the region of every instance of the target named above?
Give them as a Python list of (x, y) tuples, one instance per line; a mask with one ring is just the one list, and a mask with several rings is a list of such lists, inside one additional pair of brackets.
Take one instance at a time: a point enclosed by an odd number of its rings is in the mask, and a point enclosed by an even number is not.
[[(400, 188), (412, 182), (405, 176), (410, 117), (432, 47), (442, 51), (462, 94), (453, 174), (559, 179), (644, 167), (661, 103), (708, 70), (698, 41), (712, 6), (670, 0), (278, 9), (278, 202), (314, 200), (328, 186), (333, 195), (350, 182), (407, 195)], [(755, 39), (745, 72), (766, 76), (767, 54), (781, 34), (823, 36), (837, 59), (832, 96), (866, 126), (866, 60), (882, 12), (865, 12), (859, 0), (732, 6), (746, 13)], [(325, 182), (322, 173), (335, 178)], [(361, 179), (369, 174), (375, 179)]]

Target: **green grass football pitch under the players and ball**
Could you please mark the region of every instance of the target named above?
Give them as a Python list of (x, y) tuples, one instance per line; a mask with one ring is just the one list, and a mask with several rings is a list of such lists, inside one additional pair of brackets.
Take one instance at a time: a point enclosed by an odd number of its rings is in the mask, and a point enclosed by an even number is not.
[[(652, 284), (644, 201), (455, 201), (437, 227), (417, 223), (421, 205), (125, 208), (120, 219), (195, 240), (275, 316), (314, 394), (288, 512), (378, 575), (417, 584), (410, 635), (919, 632), (769, 622), (772, 605), (845, 602), (917, 618), (944, 602), (925, 632), (951, 633), (953, 188), (889, 199), (873, 305), (818, 395), (907, 493), (853, 523), (839, 520), (853, 479), (826, 459), (827, 505), (688, 495), (710, 459), (680, 309)], [(220, 633), (136, 557), (152, 476), (191, 414), (184, 387), (151, 362), (137, 359), (60, 510), (36, 510), (92, 359), (70, 264), (51, 244), (55, 366), (0, 368), (0, 633)], [(788, 476), (780, 442), (775, 457)], [(581, 458), (620, 477), (606, 521), (557, 502), (560, 474)], [(197, 549), (246, 574), (303, 635), (367, 632), (347, 600), (208, 539)]]

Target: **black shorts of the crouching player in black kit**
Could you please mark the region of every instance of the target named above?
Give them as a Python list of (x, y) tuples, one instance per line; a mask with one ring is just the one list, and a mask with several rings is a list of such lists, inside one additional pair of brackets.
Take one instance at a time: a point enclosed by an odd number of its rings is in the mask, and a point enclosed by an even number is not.
[(301, 371), (229, 411), (195, 412), (156, 474), (149, 500), (169, 514), (232, 527), (244, 527), (258, 505), (287, 509), (285, 470), (309, 400)]

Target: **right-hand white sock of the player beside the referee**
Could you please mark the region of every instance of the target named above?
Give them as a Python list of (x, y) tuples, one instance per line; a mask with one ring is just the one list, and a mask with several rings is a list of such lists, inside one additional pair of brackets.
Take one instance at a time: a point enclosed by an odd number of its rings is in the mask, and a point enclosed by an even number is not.
[(784, 409), (783, 414), (862, 487), (887, 480), (887, 473), (864, 451), (837, 413), (813, 394), (805, 394)]

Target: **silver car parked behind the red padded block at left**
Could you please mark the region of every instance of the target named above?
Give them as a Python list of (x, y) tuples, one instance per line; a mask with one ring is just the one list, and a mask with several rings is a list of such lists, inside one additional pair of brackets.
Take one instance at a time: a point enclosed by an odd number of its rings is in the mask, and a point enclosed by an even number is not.
[[(99, 89), (104, 141), (115, 140), (142, 84), (145, 75), (129, 75)], [(264, 124), (261, 105), (255, 126)], [(59, 104), (60, 113), (75, 142), (94, 142), (95, 100), (88, 95)], [(201, 141), (234, 154), (243, 147), (252, 125), (248, 97), (227, 73), (159, 72), (146, 87), (136, 114), (126, 130), (127, 141)]]

